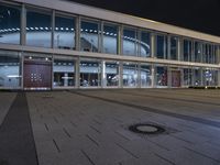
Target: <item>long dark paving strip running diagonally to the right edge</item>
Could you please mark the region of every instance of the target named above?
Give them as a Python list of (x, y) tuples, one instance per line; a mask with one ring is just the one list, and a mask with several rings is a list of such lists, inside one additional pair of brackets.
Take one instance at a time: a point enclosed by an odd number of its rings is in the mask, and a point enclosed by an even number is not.
[(168, 111), (161, 110), (161, 109), (154, 109), (154, 108), (150, 108), (150, 107), (122, 102), (122, 101), (119, 101), (119, 100), (111, 100), (111, 99), (101, 98), (101, 97), (97, 97), (97, 96), (90, 96), (90, 95), (81, 94), (81, 92), (78, 92), (78, 91), (69, 91), (69, 92), (75, 94), (75, 95), (79, 95), (79, 96), (84, 96), (84, 97), (88, 97), (88, 98), (92, 98), (92, 99), (107, 101), (107, 102), (114, 103), (114, 105), (121, 105), (121, 106), (127, 106), (127, 107), (130, 107), (130, 108), (140, 109), (142, 111), (148, 111), (148, 112), (152, 112), (152, 113), (164, 114), (164, 116), (167, 116), (167, 117), (173, 117), (173, 118), (177, 118), (177, 119), (182, 119), (182, 120), (187, 120), (187, 121), (193, 121), (193, 122), (197, 122), (197, 123), (201, 123), (201, 124), (206, 124), (206, 125), (211, 125), (211, 127), (215, 127), (215, 128), (220, 128), (220, 122), (218, 122), (218, 121), (211, 121), (211, 120), (207, 120), (207, 119), (202, 119), (202, 118), (173, 113), (173, 112), (168, 112)]

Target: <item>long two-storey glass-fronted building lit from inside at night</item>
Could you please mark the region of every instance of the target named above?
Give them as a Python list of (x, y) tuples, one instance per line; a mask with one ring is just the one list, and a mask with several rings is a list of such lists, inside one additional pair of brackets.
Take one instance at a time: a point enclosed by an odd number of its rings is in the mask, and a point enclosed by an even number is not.
[(62, 0), (0, 0), (0, 88), (220, 86), (220, 37)]

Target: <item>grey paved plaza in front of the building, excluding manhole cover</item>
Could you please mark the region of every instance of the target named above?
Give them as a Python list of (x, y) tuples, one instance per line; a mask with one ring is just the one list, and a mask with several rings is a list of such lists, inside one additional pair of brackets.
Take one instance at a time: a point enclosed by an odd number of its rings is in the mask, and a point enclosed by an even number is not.
[[(0, 165), (220, 165), (220, 90), (0, 92)], [(165, 131), (141, 134), (152, 124)]]

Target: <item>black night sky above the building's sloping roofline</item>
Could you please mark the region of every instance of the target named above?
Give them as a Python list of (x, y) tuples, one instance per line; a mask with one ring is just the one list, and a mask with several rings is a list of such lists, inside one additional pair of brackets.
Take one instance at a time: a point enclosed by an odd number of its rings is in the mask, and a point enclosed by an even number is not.
[(220, 36), (220, 0), (69, 0)]

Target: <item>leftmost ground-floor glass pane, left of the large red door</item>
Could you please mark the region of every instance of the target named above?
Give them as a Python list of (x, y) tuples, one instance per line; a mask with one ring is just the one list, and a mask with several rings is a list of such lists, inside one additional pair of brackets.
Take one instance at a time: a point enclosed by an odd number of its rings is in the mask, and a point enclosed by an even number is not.
[(0, 51), (0, 88), (21, 86), (20, 55), (16, 52)]

